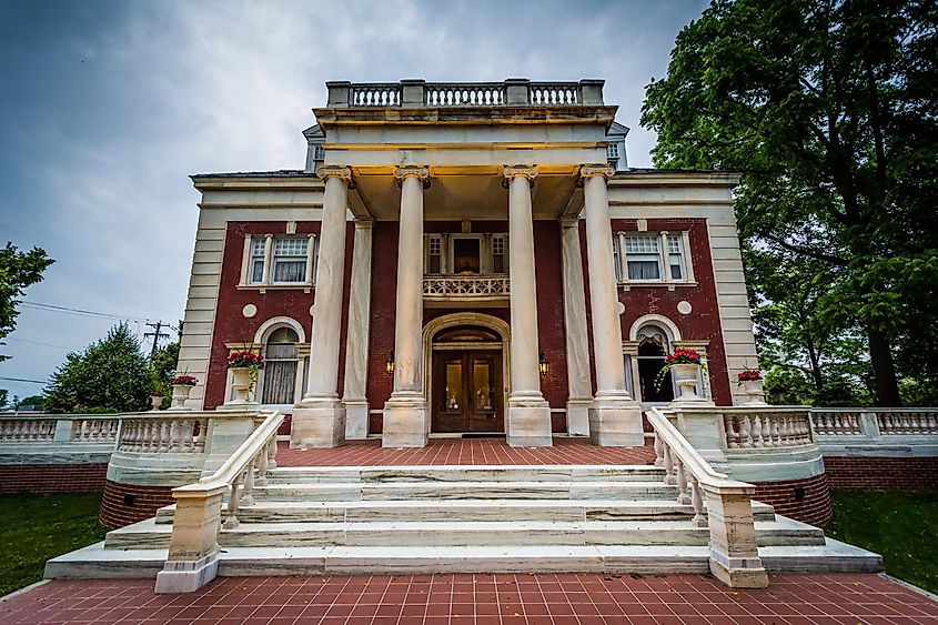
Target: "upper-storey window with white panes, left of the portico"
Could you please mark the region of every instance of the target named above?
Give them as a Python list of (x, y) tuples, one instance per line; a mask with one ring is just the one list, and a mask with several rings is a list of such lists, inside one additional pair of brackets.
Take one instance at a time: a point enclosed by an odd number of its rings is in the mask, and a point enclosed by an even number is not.
[(262, 285), (309, 284), (313, 280), (316, 252), (315, 238), (310, 235), (253, 236), (245, 282)]

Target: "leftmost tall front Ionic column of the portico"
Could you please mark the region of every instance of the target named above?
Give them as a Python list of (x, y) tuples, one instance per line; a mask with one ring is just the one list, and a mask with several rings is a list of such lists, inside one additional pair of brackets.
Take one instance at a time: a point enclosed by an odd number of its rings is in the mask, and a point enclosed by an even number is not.
[(345, 213), (352, 171), (323, 165), (325, 180), (320, 259), (316, 266), (313, 332), (306, 394), (293, 409), (291, 447), (335, 447), (345, 443), (345, 409), (339, 400), (342, 282), (345, 275)]

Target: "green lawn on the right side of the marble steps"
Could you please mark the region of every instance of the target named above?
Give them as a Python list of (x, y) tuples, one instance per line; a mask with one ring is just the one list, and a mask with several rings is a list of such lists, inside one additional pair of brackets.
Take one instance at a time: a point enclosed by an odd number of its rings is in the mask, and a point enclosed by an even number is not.
[(938, 593), (938, 491), (831, 491), (828, 536), (882, 555), (890, 575)]

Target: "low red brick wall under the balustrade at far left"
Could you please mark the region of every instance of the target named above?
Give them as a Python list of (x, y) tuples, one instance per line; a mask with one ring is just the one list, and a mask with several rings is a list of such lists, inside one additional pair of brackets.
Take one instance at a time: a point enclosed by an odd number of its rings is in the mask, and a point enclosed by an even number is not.
[(104, 488), (104, 464), (3, 464), (0, 493), (93, 493)]

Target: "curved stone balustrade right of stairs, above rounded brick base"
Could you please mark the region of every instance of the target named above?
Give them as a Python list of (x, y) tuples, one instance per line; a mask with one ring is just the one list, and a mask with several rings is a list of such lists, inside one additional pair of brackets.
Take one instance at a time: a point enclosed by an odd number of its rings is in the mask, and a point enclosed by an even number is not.
[[(740, 407), (745, 410), (745, 406)], [(814, 443), (807, 410), (726, 410), (723, 423), (726, 446), (730, 450), (790, 447)]]

